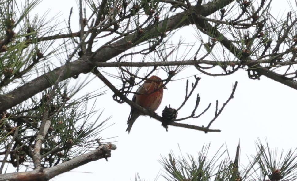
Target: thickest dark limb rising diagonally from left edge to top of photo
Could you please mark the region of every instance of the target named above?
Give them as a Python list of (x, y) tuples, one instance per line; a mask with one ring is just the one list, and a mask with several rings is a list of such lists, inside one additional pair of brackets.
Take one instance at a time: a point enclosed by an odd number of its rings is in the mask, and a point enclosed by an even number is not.
[[(234, 0), (213, 0), (203, 6), (195, 7), (197, 11), (200, 12), (202, 16), (208, 16), (215, 11), (217, 11), (220, 8), (223, 8), (233, 2)], [(183, 13), (178, 13), (177, 15), (174, 15), (172, 17), (169, 17), (166, 21), (161, 21), (158, 26), (160, 29), (162, 29), (162, 25), (167, 22), (167, 29), (165, 31), (172, 31), (174, 29), (187, 26), (189, 24), (194, 24), (194, 21), (192, 19), (186, 18), (185, 21), (181, 22), (181, 19), (184, 19), (183, 17), (188, 16), (192, 11), (185, 11)], [(190, 17), (190, 16), (189, 16)], [(155, 27), (147, 27), (145, 28), (147, 31), (144, 32), (144, 37), (147, 38), (153, 38), (153, 32), (156, 31)], [(110, 47), (104, 47), (102, 48), (93, 58), (90, 60), (91, 62), (106, 62), (107, 60), (117, 56), (118, 54), (126, 51), (127, 49), (131, 48), (132, 46), (123, 45), (126, 44), (127, 41), (133, 41), (133, 38), (138, 40), (137, 43), (133, 44), (133, 46), (144, 42), (147, 40), (147, 38), (143, 38), (139, 40), (136, 36), (137, 32), (127, 35), (126, 37), (118, 40), (115, 43), (112, 43)], [(150, 36), (149, 36), (150, 35)], [(122, 46), (117, 46), (122, 45)], [(116, 48), (114, 48), (116, 47)], [(84, 59), (83, 59), (84, 60)], [(62, 78), (62, 80), (71, 78), (75, 75), (78, 75), (83, 72), (90, 72), (93, 68), (89, 62), (83, 61), (83, 60), (76, 60), (74, 62), (69, 63), (67, 66), (67, 74), (65, 74)], [(11, 92), (8, 92), (6, 95), (0, 96), (0, 111), (5, 111), (6, 109), (9, 109), (13, 106), (16, 106), (17, 104), (23, 102), (24, 100), (27, 100), (28, 98), (34, 96), (38, 92), (41, 92), (42, 90), (52, 86), (51, 82), (55, 82), (60, 75), (61, 71), (64, 69), (64, 66), (59, 67), (53, 71), (50, 71), (43, 76), (39, 76), (36, 79), (33, 79), (32, 81), (18, 87), (17, 89), (14, 89)], [(50, 81), (48, 80), (50, 79)]]

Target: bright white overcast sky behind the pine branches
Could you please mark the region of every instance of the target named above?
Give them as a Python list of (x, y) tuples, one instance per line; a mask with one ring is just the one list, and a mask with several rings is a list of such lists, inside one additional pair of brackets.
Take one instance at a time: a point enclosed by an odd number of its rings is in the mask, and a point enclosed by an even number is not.
[[(72, 4), (70, 3), (72, 2)], [(272, 12), (286, 15), (290, 10), (287, 2), (274, 0), (272, 3)], [(74, 15), (77, 13), (76, 1), (61, 0), (44, 0), (38, 6), (38, 13), (42, 14), (45, 10), (50, 9), (50, 15), (54, 16), (58, 12), (63, 15), (60, 20), (68, 21), (70, 8), (74, 8)], [(77, 19), (78, 20), (78, 19)], [(74, 21), (74, 20), (72, 20)], [(64, 24), (62, 24), (64, 26)], [(195, 31), (180, 30), (186, 41), (192, 42)], [(187, 32), (187, 33), (184, 33)], [(189, 33), (190, 32), (190, 33)], [(196, 44), (198, 47), (199, 43)], [(167, 105), (178, 107), (183, 101), (185, 95), (185, 81), (188, 76), (198, 74), (199, 72), (191, 67), (182, 71), (176, 78), (176, 81), (169, 82), (168, 90), (164, 91), (164, 97), (158, 110), (161, 114), (162, 109)], [(166, 73), (160, 71), (158, 74), (161, 78), (166, 78)], [(126, 131), (127, 119), (130, 113), (128, 104), (118, 104), (112, 100), (112, 92), (97, 98), (97, 109), (103, 109), (102, 120), (112, 115), (108, 125), (115, 123), (108, 129), (101, 132), (103, 138), (118, 136), (109, 141), (117, 141), (117, 149), (112, 151), (112, 157), (108, 162), (105, 159), (94, 161), (83, 165), (72, 172), (56, 176), (55, 181), (73, 180), (134, 180), (136, 172), (140, 174), (142, 180), (153, 181), (162, 170), (162, 165), (158, 160), (162, 156), (167, 156), (170, 150), (173, 150), (176, 156), (181, 155), (178, 144), (182, 153), (197, 156), (204, 143), (211, 142), (209, 157), (224, 143), (229, 148), (230, 155), (234, 158), (238, 139), (241, 142), (241, 164), (247, 165), (246, 155), (256, 154), (255, 141), (260, 138), (265, 143), (268, 139), (270, 147), (284, 148), (288, 150), (296, 147), (296, 107), (297, 101), (296, 90), (291, 89), (278, 82), (272, 81), (264, 76), (261, 80), (251, 80), (246, 71), (238, 71), (231, 76), (209, 77), (202, 74), (196, 94), (201, 97), (200, 105), (197, 110), (199, 114), (203, 111), (208, 103), (212, 103), (208, 114), (196, 120), (189, 120), (183, 123), (195, 125), (207, 125), (214, 116), (215, 100), (219, 100), (221, 106), (227, 100), (232, 91), (235, 81), (238, 81), (238, 87), (234, 99), (230, 101), (223, 113), (212, 124), (211, 129), (221, 129), (220, 133), (207, 133), (176, 128), (169, 126), (166, 132), (159, 121), (149, 117), (140, 117), (131, 130), (130, 135)], [(110, 80), (113, 78), (108, 77)], [(181, 79), (181, 80), (177, 80)], [(193, 79), (191, 79), (193, 81)], [(92, 85), (102, 87), (102, 82), (95, 79)], [(96, 88), (87, 87), (87, 92), (92, 92)], [(105, 88), (107, 89), (107, 88)], [(82, 91), (82, 94), (85, 91)], [(130, 95), (129, 98), (131, 98)], [(195, 97), (179, 112), (179, 117), (188, 116), (194, 106)], [(187, 112), (188, 111), (188, 112)], [(89, 172), (89, 173), (85, 173)], [(162, 173), (165, 173), (162, 171)], [(162, 177), (159, 181), (165, 180)]]

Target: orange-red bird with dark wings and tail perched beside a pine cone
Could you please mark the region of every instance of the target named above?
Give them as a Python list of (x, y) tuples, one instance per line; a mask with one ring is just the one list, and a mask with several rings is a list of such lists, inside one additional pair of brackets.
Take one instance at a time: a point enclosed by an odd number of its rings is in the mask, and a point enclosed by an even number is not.
[[(167, 88), (163, 85), (162, 79), (153, 75), (145, 80), (143, 85), (137, 89), (136, 92), (139, 94), (134, 94), (132, 101), (139, 106), (154, 112), (161, 104), (163, 89)], [(126, 130), (128, 131), (128, 134), (130, 133), (135, 120), (141, 115), (143, 114), (139, 110), (131, 106), (131, 112), (127, 121), (128, 128)]]

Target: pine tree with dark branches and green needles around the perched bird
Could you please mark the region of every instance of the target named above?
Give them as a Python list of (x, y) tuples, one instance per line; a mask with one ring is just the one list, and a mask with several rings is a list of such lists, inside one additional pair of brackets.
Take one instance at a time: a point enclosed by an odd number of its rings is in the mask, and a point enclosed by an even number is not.
[[(234, 97), (237, 82), (222, 107), (216, 101), (215, 116), (205, 127), (180, 123), (200, 117), (211, 106), (197, 113), (200, 96), (193, 92), (199, 77), (185, 81), (184, 102), (179, 108), (166, 107), (162, 116), (140, 107), (127, 95), (157, 70), (168, 74), (162, 80), (166, 85), (190, 66), (210, 76), (245, 70), (251, 79), (264, 76), (297, 89), (297, 16), (289, 12), (276, 20), (269, 12), (271, 1), (79, 0), (79, 13), (70, 9), (66, 26), (55, 22), (59, 17), (33, 16), (40, 1), (0, 1), (0, 180), (50, 180), (111, 156), (116, 146), (103, 143), (98, 136), (108, 119), (100, 115), (93, 119), (97, 111), (86, 109), (88, 100), (103, 96), (105, 91), (78, 96), (92, 83), (92, 79), (77, 81), (82, 74), (99, 78), (103, 82), (100, 87), (106, 85), (117, 103), (128, 103), (162, 122), (166, 130), (177, 126), (205, 133), (220, 131), (211, 129), (211, 124)], [(75, 18), (79, 31), (73, 31), (71, 20)], [(198, 44), (182, 39), (171, 43), (172, 35), (185, 27), (192, 27)], [(179, 54), (184, 45), (186, 53)], [(138, 58), (132, 60), (133, 56)], [(118, 74), (103, 73), (108, 68)], [(144, 69), (148, 70), (145, 75), (141, 73)], [(121, 86), (110, 77), (117, 78)], [(188, 116), (178, 117), (189, 99), (196, 100), (193, 109)], [(209, 179), (212, 165), (205, 166), (204, 155), (198, 165), (187, 167), (187, 175), (181, 175), (172, 157), (164, 160), (169, 180)], [(222, 164), (216, 180), (245, 178), (238, 164)], [(264, 158), (258, 164), (272, 181), (280, 178), (271, 176), (274, 172), (285, 174), (282, 167), (268, 168)], [(16, 172), (3, 173), (5, 165)], [(20, 168), (26, 171), (20, 172)]]

